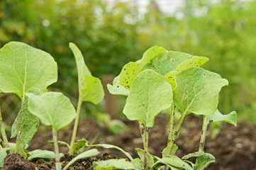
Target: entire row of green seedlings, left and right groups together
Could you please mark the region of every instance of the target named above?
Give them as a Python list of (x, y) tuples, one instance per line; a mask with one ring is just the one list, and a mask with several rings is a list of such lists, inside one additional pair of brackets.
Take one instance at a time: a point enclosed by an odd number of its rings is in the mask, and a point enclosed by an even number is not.
[[(47, 52), (22, 42), (9, 42), (0, 49), (0, 92), (17, 94), (22, 103), (11, 129), (11, 137), (16, 137), (15, 144), (8, 142), (4, 123), (2, 119), (0, 120), (3, 139), (0, 139), (0, 167), (4, 164), (4, 157), (9, 153), (21, 154), (28, 160), (55, 159), (57, 170), (68, 169), (78, 159), (99, 154), (97, 149), (89, 149), (78, 154), (69, 164), (62, 167), (60, 157), (63, 154), (59, 153), (59, 145), (67, 146), (69, 154), (79, 153), (79, 150), (81, 152), (84, 146), (115, 148), (128, 158), (94, 162), (94, 169), (99, 170), (192, 170), (205, 169), (215, 162), (212, 154), (204, 152), (208, 124), (226, 121), (236, 125), (237, 115), (235, 111), (228, 115), (218, 111), (218, 93), (223, 86), (228, 85), (228, 81), (214, 72), (201, 68), (208, 58), (167, 51), (163, 47), (151, 47), (141, 60), (126, 64), (118, 77), (113, 80), (113, 85), (108, 84), (108, 91), (111, 94), (128, 96), (123, 113), (129, 120), (138, 120), (143, 149), (136, 148), (139, 158), (133, 159), (120, 147), (105, 144), (90, 145), (85, 139), (75, 142), (82, 102), (99, 103), (104, 98), (104, 90), (101, 81), (91, 75), (78, 47), (72, 42), (69, 43), (69, 47), (77, 63), (79, 83), (77, 109), (62, 93), (47, 91), (47, 87), (57, 81), (57, 63)], [(160, 158), (150, 154), (148, 150), (148, 130), (154, 126), (155, 116), (168, 108), (171, 110), (169, 134), (167, 146)], [(179, 121), (174, 125), (174, 115), (178, 113)], [(175, 140), (184, 118), (191, 113), (201, 115), (204, 121), (199, 151), (179, 158), (175, 156), (178, 149)], [(69, 125), (74, 119), (70, 145), (58, 141), (57, 130)], [(31, 152), (26, 150), (28, 142), (38, 130), (39, 120), (51, 127), (55, 152), (40, 149)], [(189, 161), (191, 157), (195, 157), (196, 162)]]

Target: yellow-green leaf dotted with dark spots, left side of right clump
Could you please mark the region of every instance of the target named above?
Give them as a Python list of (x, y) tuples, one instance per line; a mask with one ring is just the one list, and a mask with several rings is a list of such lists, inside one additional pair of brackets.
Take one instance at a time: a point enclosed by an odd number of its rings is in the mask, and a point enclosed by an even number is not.
[(123, 69), (119, 75), (121, 86), (124, 86), (126, 89), (130, 90), (135, 77), (137, 77), (137, 75), (144, 70), (143, 68), (139, 67), (139, 65), (140, 64), (135, 62), (129, 62), (123, 66)]

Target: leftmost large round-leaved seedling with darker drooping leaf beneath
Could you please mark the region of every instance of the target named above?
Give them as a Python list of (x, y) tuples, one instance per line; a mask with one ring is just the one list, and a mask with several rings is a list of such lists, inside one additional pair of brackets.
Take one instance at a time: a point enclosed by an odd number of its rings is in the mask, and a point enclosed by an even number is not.
[(24, 147), (38, 129), (38, 118), (28, 113), (26, 93), (47, 91), (57, 81), (57, 64), (42, 50), (22, 42), (9, 42), (0, 49), (0, 91), (17, 94), (21, 98), (19, 111), (11, 130), (17, 136), (16, 153), (26, 157)]

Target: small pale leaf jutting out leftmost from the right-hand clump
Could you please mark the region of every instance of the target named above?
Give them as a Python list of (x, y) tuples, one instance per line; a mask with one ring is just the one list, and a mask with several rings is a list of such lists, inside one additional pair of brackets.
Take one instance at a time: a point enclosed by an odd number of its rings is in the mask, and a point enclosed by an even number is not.
[(120, 80), (119, 76), (115, 77), (115, 79), (113, 79), (113, 85), (111, 84), (106, 85), (109, 93), (128, 96), (130, 91), (126, 89), (124, 86), (122, 86), (121, 84), (119, 84), (119, 80)]

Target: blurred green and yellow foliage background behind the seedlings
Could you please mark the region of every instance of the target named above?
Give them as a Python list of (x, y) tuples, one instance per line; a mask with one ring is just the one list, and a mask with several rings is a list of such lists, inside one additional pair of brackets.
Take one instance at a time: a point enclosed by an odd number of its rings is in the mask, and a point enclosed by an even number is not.
[[(181, 0), (182, 1), (182, 0)], [(16, 40), (49, 52), (58, 64), (53, 88), (77, 98), (77, 69), (68, 42), (82, 50), (92, 74), (118, 75), (154, 45), (205, 56), (204, 68), (228, 79), (219, 110), (256, 122), (256, 1), (191, 0), (171, 14), (150, 1), (0, 1), (0, 47)]]

